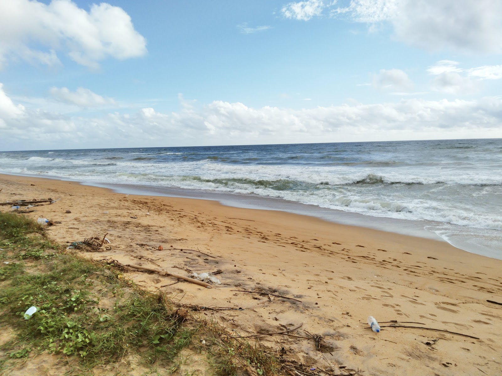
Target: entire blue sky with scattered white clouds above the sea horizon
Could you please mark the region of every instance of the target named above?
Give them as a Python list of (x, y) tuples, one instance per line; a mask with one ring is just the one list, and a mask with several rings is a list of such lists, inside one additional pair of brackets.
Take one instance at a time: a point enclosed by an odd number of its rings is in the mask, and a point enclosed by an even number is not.
[(0, 150), (502, 137), (500, 0), (0, 0)]

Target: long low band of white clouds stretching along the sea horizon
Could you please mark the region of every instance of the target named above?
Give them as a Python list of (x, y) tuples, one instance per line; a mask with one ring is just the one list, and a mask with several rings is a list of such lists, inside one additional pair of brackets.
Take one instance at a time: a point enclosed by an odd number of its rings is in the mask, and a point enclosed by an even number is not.
[(160, 113), (64, 116), (16, 105), (0, 88), (0, 149), (321, 142), (502, 136), (502, 98), (401, 100), (306, 109), (214, 101)]

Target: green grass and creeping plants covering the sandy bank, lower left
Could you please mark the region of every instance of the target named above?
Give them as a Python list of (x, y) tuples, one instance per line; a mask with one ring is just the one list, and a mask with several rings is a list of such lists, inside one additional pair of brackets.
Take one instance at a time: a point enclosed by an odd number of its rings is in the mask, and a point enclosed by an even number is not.
[[(279, 372), (278, 359), (257, 343), (203, 318), (185, 321), (165, 294), (71, 252), (33, 220), (0, 213), (0, 371), (51, 354), (66, 362), (67, 374), (95, 374), (132, 358), (153, 372), (145, 374), (169, 374), (189, 348), (206, 355), (209, 374)], [(37, 312), (24, 319), (31, 306)]]

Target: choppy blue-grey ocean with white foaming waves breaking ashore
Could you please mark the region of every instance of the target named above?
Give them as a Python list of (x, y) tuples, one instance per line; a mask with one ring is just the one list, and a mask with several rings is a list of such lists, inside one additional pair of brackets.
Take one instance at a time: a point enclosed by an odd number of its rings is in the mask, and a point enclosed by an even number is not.
[(5, 151), (0, 172), (286, 210), (502, 259), (502, 139)]

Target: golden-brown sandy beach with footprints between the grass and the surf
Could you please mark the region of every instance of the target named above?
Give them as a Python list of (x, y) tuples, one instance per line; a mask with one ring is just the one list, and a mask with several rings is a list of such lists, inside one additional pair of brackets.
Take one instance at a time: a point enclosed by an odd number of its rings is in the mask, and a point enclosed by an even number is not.
[[(111, 250), (82, 252), (87, 257), (185, 276), (221, 269), (221, 285), (212, 289), (140, 271), (124, 277), (183, 304), (243, 308), (201, 313), (242, 335), (303, 323), (298, 335), (322, 335), (322, 351), (305, 338), (260, 337), (270, 350), (284, 347), (299, 362), (335, 374), (502, 374), (502, 305), (487, 302), (502, 302), (500, 260), (445, 242), (214, 201), (129, 196), (11, 175), (0, 175), (0, 189), (2, 202), (57, 200), (27, 216), (60, 221), (47, 229), (60, 243), (107, 234)], [(423, 328), (374, 333), (368, 315), (382, 326), (397, 320), (479, 339)]]

